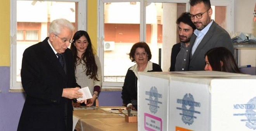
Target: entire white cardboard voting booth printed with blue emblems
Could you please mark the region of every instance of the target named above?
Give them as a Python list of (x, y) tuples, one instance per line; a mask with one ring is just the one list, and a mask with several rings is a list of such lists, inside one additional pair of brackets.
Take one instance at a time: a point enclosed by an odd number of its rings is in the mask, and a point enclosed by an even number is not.
[(139, 72), (139, 131), (253, 131), (254, 109), (256, 76)]

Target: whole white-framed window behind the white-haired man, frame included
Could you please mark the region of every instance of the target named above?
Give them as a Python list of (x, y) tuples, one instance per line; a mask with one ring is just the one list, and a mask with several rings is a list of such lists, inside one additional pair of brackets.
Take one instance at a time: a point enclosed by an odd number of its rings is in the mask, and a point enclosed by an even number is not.
[(21, 62), (24, 50), (48, 36), (48, 25), (66, 18), (77, 30), (86, 30), (86, 0), (11, 0), (10, 89), (22, 89)]

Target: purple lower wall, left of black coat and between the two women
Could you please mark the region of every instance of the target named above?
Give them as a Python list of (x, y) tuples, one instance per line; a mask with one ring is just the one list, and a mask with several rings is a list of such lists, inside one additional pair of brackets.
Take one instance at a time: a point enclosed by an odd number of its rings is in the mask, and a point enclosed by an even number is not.
[[(16, 131), (25, 101), (25, 93), (9, 92), (10, 67), (0, 67), (0, 131)], [(121, 106), (121, 91), (102, 91), (100, 106)]]

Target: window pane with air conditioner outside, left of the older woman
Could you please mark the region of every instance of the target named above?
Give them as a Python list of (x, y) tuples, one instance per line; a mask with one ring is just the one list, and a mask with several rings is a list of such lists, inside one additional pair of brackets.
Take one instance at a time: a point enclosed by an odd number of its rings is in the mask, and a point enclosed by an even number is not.
[(104, 3), (104, 82), (123, 82), (133, 44), (140, 41), (140, 2)]

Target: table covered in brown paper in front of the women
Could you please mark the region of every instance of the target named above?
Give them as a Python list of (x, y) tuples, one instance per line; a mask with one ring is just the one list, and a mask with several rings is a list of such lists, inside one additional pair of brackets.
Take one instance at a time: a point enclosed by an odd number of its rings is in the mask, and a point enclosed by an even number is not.
[(77, 131), (137, 131), (138, 123), (127, 123), (125, 117), (103, 110), (103, 108), (123, 108), (123, 106), (104, 107), (93, 110), (74, 110), (78, 117)]

